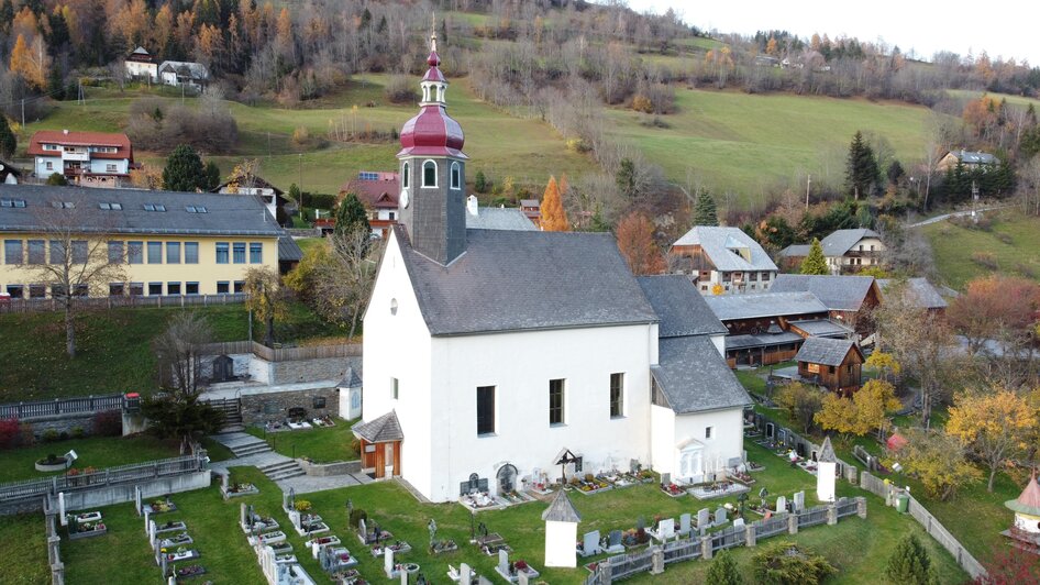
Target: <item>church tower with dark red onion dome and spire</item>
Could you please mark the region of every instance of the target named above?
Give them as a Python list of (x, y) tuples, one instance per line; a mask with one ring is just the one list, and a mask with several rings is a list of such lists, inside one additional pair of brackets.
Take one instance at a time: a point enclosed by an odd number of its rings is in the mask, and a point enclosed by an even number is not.
[(436, 33), (430, 37), (430, 68), (420, 81), (419, 114), (401, 129), (400, 223), (412, 249), (442, 265), (466, 250), (465, 137), (447, 115), (447, 79), (439, 68)]

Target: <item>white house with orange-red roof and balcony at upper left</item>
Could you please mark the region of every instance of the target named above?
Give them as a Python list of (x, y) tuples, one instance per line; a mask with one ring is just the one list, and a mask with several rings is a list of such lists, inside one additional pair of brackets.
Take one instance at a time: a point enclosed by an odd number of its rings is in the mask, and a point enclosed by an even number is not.
[(120, 187), (134, 165), (126, 134), (40, 130), (29, 143), (33, 173), (46, 179), (58, 173), (82, 187)]

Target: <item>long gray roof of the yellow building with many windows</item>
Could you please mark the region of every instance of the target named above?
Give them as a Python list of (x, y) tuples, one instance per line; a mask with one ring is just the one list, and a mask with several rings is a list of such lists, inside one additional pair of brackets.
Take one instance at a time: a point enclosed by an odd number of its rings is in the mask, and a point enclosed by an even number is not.
[[(281, 228), (255, 197), (218, 194), (0, 185), (0, 199), (25, 201), (24, 208), (0, 206), (0, 231), (38, 232), (52, 202), (71, 202), (82, 233), (133, 233), (178, 235), (278, 236)], [(102, 210), (101, 203), (119, 203), (121, 210)], [(166, 211), (145, 211), (145, 203), (166, 206)], [(203, 207), (206, 213), (189, 213), (187, 207)], [(56, 211), (56, 210), (55, 210)], [(53, 221), (53, 220), (52, 220)]]

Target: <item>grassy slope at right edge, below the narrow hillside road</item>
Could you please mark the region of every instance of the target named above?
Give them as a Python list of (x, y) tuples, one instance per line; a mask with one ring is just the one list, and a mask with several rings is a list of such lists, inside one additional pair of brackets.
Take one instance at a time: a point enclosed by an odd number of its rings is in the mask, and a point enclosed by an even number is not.
[[(1018, 209), (991, 216), (991, 231), (967, 230), (949, 221), (925, 227), (931, 242), (936, 268), (945, 283), (958, 289), (994, 272), (1040, 279), (1040, 218)], [(976, 253), (989, 253), (997, 263), (993, 271), (972, 261)]]

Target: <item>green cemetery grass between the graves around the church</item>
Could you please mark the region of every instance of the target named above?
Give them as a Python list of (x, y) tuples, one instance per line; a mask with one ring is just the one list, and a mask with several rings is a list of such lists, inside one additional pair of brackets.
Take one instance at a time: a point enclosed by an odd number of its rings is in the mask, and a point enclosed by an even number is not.
[[(786, 494), (789, 497), (794, 490), (805, 489), (807, 503), (816, 504), (815, 479), (811, 475), (790, 468), (781, 457), (753, 443), (748, 446), (749, 456), (766, 465), (764, 472), (755, 474), (760, 477), (755, 492), (759, 486), (764, 485), (773, 499), (775, 495)], [(288, 525), (288, 518), (280, 509), (281, 493), (277, 486), (252, 467), (234, 467), (232, 473), (233, 481), (252, 482), (261, 488), (261, 494), (230, 501), (221, 499), (215, 486), (178, 494), (173, 496), (173, 499), (179, 510), (168, 515), (168, 518), (159, 518), (164, 521), (185, 520), (188, 532), (196, 539), (192, 547), (202, 553), (200, 563), (209, 571), (206, 578), (212, 578), (215, 583), (252, 583), (258, 581), (259, 573), (255, 555), (236, 526), (239, 504), (253, 504), (257, 512), (274, 516), (284, 527)], [(854, 496), (862, 495), (863, 492), (842, 483), (839, 484), (839, 494)], [(383, 561), (367, 554), (348, 533), (344, 507), (347, 499), (353, 500), (355, 508), (366, 510), (372, 520), (391, 531), (395, 539), (408, 541), (413, 550), (401, 555), (401, 559), (419, 563), (428, 577), (440, 582), (449, 563), (458, 566), (461, 562), (469, 563), (486, 576), (493, 575), (497, 559), (485, 556), (468, 544), (471, 518), (461, 506), (419, 504), (395, 483), (376, 483), (307, 494), (297, 499), (312, 503), (313, 511), (323, 517), (332, 528), (332, 533), (338, 534), (352, 553), (358, 555), (362, 563), (359, 569), (369, 580), (381, 581)], [(733, 501), (732, 498), (729, 500)], [(682, 512), (695, 514), (702, 507), (713, 509), (726, 500), (700, 503), (692, 497), (675, 499), (665, 496), (653, 485), (643, 485), (593, 496), (573, 494), (572, 501), (582, 514), (579, 533), (584, 533), (596, 529), (604, 532), (631, 528), (640, 516), (648, 521), (652, 521), (655, 515), (677, 518)], [(837, 527), (814, 527), (793, 537), (797, 542), (825, 554), (841, 569), (841, 574), (832, 580), (834, 583), (876, 583), (879, 567), (887, 561), (898, 538), (907, 532), (923, 536), (916, 522), (899, 516), (893, 508), (886, 508), (878, 498), (868, 496), (867, 506), (866, 520), (845, 519)], [(542, 571), (542, 578), (546, 582), (580, 583), (587, 574), (583, 569), (547, 570), (544, 566), (544, 523), (541, 512), (545, 507), (545, 504), (540, 503), (525, 504), (506, 510), (480, 512), (475, 519), (476, 522), (485, 522), (489, 531), (501, 533), (513, 548), (511, 559), (528, 560)], [(107, 536), (62, 542), (62, 556), (66, 563), (68, 582), (103, 584), (155, 581), (158, 570), (152, 562), (147, 541), (142, 532), (143, 525), (135, 516), (133, 506), (123, 504), (104, 508), (102, 511), (109, 526)], [(438, 558), (427, 554), (427, 523), (431, 518), (436, 520), (439, 537), (454, 539), (460, 544), (458, 552)], [(18, 541), (15, 550), (22, 550), (23, 543), (33, 542), (31, 538), (36, 533), (41, 534), (37, 539), (38, 545), (25, 545), (25, 554), (19, 555), (15, 563), (24, 564), (25, 574), (37, 575), (38, 578), (46, 561), (42, 543), (43, 526), (38, 517), (19, 517), (14, 522), (4, 522), (4, 526), (0, 527), (0, 547), (9, 550), (7, 545)], [(291, 530), (288, 534), (305, 569), (311, 576), (320, 576), (317, 562), (302, 550), (303, 539)], [(762, 542), (773, 542), (781, 538), (784, 537)], [(964, 574), (945, 551), (927, 537), (923, 541), (938, 565), (941, 583), (956, 583), (964, 578)], [(741, 570), (748, 577), (748, 559), (753, 552), (744, 549), (734, 551)], [(44, 553), (42, 559), (40, 553)], [(111, 562), (113, 554), (119, 555), (118, 564)], [(701, 561), (672, 565), (663, 577), (657, 577), (654, 582), (700, 583), (704, 582), (707, 566), (708, 563)], [(637, 581), (646, 582), (650, 578), (643, 576)]]

